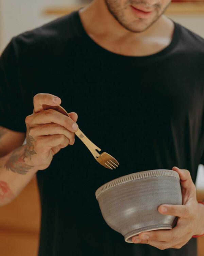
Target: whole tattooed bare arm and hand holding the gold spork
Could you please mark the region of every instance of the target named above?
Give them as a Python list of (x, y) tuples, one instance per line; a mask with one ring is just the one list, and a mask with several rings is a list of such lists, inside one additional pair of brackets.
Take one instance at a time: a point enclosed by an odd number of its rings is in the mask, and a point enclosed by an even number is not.
[[(47, 169), (53, 156), (74, 144), (78, 130), (77, 113), (68, 117), (43, 105), (58, 106), (61, 99), (51, 94), (36, 94), (34, 110), (25, 119), (26, 133), (0, 128), (0, 206), (11, 202), (38, 170)], [(26, 137), (26, 144), (22, 145)]]

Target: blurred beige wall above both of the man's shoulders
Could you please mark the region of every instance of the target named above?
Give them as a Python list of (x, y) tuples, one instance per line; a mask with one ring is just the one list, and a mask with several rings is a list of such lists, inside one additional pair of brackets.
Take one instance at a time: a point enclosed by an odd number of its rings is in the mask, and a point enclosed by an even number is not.
[[(62, 8), (63, 6), (77, 5), (86, 0), (0, 0), (0, 52), (8, 41), (26, 30), (33, 29), (41, 24), (58, 17), (45, 15), (47, 8)], [(197, 32), (204, 37), (204, 13), (171, 14), (170, 18)]]

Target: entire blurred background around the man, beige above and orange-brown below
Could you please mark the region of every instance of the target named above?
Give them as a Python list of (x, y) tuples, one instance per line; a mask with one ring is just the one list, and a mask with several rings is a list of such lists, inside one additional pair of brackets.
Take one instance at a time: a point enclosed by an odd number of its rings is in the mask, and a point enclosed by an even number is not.
[[(79, 3), (80, 0), (0, 0), (0, 53), (13, 36), (45, 24), (71, 9), (78, 9), (75, 5)], [(197, 11), (192, 13), (188, 7), (187, 12), (175, 10), (167, 16), (204, 38), (204, 2), (200, 6), (195, 6)], [(46, 10), (48, 11), (45, 12)], [(199, 166), (196, 186), (198, 200), (203, 200), (202, 165)], [(34, 177), (12, 203), (0, 208), (0, 255), (37, 256), (39, 226), (40, 201)], [(203, 256), (204, 238), (198, 239), (198, 246), (199, 256)]]

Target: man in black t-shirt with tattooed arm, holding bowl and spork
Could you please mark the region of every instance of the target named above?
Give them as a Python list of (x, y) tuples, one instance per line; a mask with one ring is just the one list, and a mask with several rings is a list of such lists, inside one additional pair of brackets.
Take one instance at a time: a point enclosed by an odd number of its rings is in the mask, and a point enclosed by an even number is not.
[[(197, 254), (191, 237), (204, 233), (204, 206), (193, 184), (204, 163), (204, 39), (163, 14), (169, 3), (94, 0), (18, 35), (2, 54), (1, 205), (37, 173), (39, 256)], [(71, 118), (44, 110), (59, 104), (74, 111)], [(119, 161), (116, 170), (74, 142), (75, 122)], [(183, 205), (158, 207), (178, 216), (177, 225), (125, 243), (105, 223), (95, 191), (153, 169), (180, 175)]]

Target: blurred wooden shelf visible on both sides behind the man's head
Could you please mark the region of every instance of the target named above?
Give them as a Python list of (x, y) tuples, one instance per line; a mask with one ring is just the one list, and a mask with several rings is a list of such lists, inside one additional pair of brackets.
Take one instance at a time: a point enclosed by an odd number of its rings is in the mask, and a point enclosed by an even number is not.
[[(73, 11), (79, 10), (85, 5), (73, 5), (73, 6), (65, 6), (65, 7), (56, 7), (56, 8), (48, 8), (43, 11), (45, 15), (66, 15)], [(204, 1), (202, 2), (172, 2), (166, 13), (166, 15), (171, 14), (204, 14)]]

